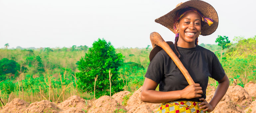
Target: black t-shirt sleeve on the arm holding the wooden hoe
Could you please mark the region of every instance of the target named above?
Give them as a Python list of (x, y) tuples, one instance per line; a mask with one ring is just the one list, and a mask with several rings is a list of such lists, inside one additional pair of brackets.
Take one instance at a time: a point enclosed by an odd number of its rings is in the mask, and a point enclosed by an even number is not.
[(164, 56), (158, 52), (151, 60), (145, 77), (160, 83), (164, 75)]

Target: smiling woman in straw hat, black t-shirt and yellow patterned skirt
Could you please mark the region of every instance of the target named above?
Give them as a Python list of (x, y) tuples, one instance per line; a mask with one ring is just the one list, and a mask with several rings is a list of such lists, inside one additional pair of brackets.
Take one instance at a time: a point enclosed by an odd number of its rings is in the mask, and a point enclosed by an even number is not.
[[(225, 95), (229, 80), (217, 56), (198, 46), (197, 42), (199, 35), (210, 35), (217, 29), (217, 12), (204, 1), (190, 0), (178, 4), (174, 10), (155, 22), (176, 34), (175, 43), (170, 47), (175, 50), (195, 84), (189, 85), (178, 66), (161, 50), (153, 56), (145, 74), (142, 101), (162, 103), (157, 113), (213, 111)], [(219, 83), (215, 92), (217, 95), (209, 103), (205, 100), (208, 77)], [(159, 91), (156, 91), (158, 84)]]

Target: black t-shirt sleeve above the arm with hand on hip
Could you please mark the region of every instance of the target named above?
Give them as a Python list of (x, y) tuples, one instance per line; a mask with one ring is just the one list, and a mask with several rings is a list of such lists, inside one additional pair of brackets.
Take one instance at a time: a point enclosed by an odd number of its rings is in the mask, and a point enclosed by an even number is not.
[(223, 67), (221, 66), (219, 59), (217, 56), (214, 54), (213, 59), (212, 59), (212, 71), (211, 71), (211, 78), (215, 80), (221, 80), (225, 76), (225, 71)]

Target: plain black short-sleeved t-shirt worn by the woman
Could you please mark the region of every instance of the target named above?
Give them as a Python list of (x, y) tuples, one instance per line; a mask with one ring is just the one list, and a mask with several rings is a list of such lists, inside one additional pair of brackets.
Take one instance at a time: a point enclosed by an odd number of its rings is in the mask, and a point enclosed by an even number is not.
[[(170, 47), (178, 56), (174, 45)], [(202, 87), (202, 97), (205, 99), (208, 77), (221, 80), (225, 75), (217, 56), (201, 46), (194, 48), (177, 47), (177, 49), (181, 55), (180, 60), (192, 79)], [(164, 50), (158, 52), (151, 60), (145, 77), (159, 83), (159, 91), (182, 90), (189, 85), (180, 69)], [(182, 100), (200, 102), (199, 98), (178, 99), (177, 101)]]

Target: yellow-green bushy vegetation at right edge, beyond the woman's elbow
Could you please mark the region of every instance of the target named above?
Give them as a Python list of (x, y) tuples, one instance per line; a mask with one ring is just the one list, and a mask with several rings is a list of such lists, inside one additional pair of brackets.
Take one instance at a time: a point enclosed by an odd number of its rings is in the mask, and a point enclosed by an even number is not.
[(220, 60), (225, 72), (237, 84), (244, 86), (248, 81), (256, 79), (256, 36), (238, 41)]

